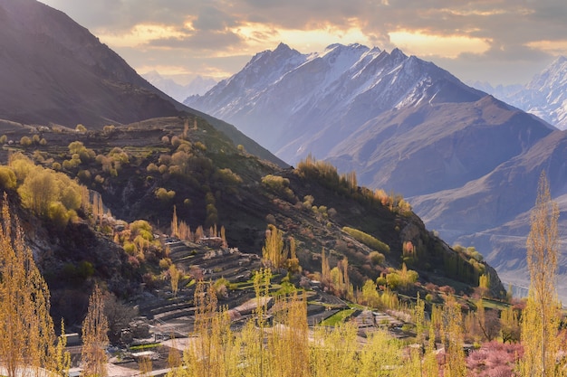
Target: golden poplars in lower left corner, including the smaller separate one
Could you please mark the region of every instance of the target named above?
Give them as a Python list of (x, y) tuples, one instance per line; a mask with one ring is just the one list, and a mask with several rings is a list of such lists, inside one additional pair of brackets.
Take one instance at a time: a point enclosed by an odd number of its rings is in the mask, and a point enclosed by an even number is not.
[[(68, 375), (70, 354), (65, 351), (64, 324), (56, 336), (50, 316), (50, 292), (37, 269), (32, 250), (24, 243), (7, 195), (0, 224), (0, 360), (8, 377)], [(106, 376), (109, 330), (101, 290), (96, 287), (82, 325), (82, 367), (86, 376)]]

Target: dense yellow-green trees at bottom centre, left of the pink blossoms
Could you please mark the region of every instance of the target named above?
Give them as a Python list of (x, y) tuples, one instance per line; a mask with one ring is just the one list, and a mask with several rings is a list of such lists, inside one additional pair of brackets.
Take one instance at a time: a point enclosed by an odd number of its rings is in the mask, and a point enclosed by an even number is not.
[(227, 311), (217, 307), (214, 288), (199, 283), (194, 341), (183, 358), (172, 358), (177, 364), (168, 376), (418, 375), (419, 351), (406, 353), (405, 344), (385, 331), (364, 345), (350, 322), (320, 326), (310, 335), (306, 298), (297, 293), (268, 297), (269, 280), (269, 270), (256, 273), (256, 308), (238, 332), (231, 329)]

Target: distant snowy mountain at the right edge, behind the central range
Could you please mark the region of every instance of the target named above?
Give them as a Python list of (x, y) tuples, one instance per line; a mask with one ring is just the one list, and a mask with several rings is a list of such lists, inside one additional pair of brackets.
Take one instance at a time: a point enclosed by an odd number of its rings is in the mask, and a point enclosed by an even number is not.
[(526, 85), (474, 84), (498, 99), (567, 129), (567, 58), (560, 56)]

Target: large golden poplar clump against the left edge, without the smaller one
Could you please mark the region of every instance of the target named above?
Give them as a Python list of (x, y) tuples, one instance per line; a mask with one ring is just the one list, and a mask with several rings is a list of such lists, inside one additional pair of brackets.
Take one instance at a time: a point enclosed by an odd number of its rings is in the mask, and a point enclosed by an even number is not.
[(37, 375), (40, 368), (56, 371), (61, 360), (56, 353), (62, 353), (54, 346), (49, 289), (22, 234), (5, 194), (0, 226), (0, 360), (2, 373), (9, 377)]

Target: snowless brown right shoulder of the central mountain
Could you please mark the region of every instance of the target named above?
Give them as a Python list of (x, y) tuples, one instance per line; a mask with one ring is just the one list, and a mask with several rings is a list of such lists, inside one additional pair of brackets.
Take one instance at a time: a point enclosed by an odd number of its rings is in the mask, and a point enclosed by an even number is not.
[(364, 184), (423, 195), (480, 178), (550, 132), (492, 97), (426, 103), (371, 119), (327, 158)]

